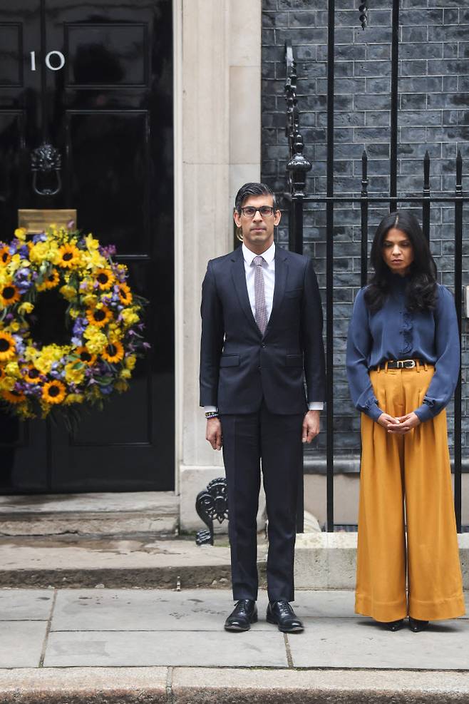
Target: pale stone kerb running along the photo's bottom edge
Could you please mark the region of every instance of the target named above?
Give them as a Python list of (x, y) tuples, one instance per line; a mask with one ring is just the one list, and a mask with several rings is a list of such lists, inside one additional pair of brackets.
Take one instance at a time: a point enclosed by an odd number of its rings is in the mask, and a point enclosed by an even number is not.
[(251, 668), (0, 670), (2, 704), (467, 703), (467, 673)]

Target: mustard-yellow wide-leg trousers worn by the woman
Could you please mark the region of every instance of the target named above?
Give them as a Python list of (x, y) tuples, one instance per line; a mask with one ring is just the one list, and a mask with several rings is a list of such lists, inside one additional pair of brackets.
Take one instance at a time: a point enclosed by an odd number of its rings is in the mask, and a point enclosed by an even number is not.
[[(432, 376), (423, 366), (370, 372), (379, 407), (392, 416), (418, 408)], [(362, 414), (361, 441), (356, 613), (376, 621), (462, 616), (445, 411), (406, 435)]]

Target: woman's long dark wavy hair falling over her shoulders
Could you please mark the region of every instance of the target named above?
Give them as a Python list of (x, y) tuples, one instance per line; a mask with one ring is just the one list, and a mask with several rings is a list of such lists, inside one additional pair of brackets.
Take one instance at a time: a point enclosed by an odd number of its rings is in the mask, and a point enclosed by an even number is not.
[(371, 265), (374, 269), (365, 302), (371, 312), (382, 306), (391, 290), (393, 273), (383, 260), (383, 243), (389, 230), (396, 228), (405, 233), (413, 247), (413, 262), (409, 269), (406, 288), (406, 308), (410, 312), (434, 310), (436, 307), (436, 264), (423, 236), (417, 218), (406, 210), (390, 213), (381, 220), (371, 245)]

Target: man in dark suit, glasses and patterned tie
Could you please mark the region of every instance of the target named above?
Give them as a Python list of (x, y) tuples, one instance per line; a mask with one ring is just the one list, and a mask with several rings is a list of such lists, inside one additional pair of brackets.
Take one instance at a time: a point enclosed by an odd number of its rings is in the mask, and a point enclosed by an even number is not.
[(289, 604), (297, 491), (302, 442), (319, 433), (324, 346), (311, 260), (275, 246), (280, 216), (267, 185), (244, 184), (234, 210), (243, 244), (208, 262), (202, 285), (200, 405), (208, 442), (223, 447), (237, 601), (227, 631), (247, 631), (257, 621), (261, 461), (269, 518), (267, 621), (287, 633), (303, 630)]

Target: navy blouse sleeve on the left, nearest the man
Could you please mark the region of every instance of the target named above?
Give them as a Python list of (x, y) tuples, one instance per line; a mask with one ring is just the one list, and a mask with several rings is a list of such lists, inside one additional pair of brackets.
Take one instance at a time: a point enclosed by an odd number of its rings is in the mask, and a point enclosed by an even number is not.
[(373, 392), (368, 374), (368, 358), (372, 342), (368, 309), (362, 288), (356, 296), (349, 325), (346, 354), (347, 377), (354, 406), (376, 421), (383, 411), (378, 407), (378, 400)]

